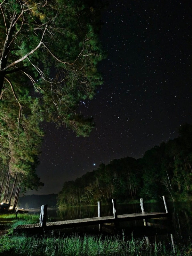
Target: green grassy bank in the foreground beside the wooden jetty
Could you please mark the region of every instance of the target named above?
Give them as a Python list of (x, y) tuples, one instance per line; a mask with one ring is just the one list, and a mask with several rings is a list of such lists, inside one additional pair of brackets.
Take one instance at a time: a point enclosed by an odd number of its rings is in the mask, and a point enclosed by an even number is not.
[[(33, 255), (33, 256), (170, 256), (174, 255), (173, 248), (164, 243), (147, 244), (145, 238), (127, 240), (125, 236), (27, 236), (13, 235), (13, 228), (20, 224), (36, 223), (38, 216), (18, 214), (0, 215), (4, 225), (9, 226), (9, 232), (0, 236), (0, 255)], [(6, 222), (6, 224), (5, 224)], [(192, 247), (176, 247), (176, 255), (191, 255)]]

